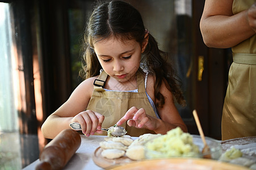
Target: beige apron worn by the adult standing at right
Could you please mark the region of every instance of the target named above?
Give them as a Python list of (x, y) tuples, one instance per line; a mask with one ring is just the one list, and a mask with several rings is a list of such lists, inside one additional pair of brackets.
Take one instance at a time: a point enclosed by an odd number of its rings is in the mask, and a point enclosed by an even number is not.
[[(233, 1), (233, 13), (249, 8), (255, 0)], [(256, 135), (256, 36), (232, 48), (233, 63), (221, 122), (222, 140)]]

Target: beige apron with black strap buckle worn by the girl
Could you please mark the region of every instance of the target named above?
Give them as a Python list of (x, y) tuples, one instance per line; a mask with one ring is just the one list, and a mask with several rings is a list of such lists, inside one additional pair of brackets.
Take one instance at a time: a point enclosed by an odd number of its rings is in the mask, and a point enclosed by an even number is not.
[[(94, 91), (87, 110), (98, 112), (104, 115), (104, 121), (102, 128), (108, 128), (116, 124), (121, 117), (130, 109), (131, 107), (137, 107), (138, 109), (144, 108), (146, 114), (149, 116), (157, 117), (156, 113), (149, 103), (148, 97), (146, 96), (144, 78), (140, 71), (137, 71), (137, 88), (138, 92), (123, 92), (123, 91), (105, 91), (103, 89), (104, 83), (107, 79), (106, 72), (102, 71), (98, 79), (94, 82)], [(127, 125), (124, 122), (122, 125), (126, 130), (127, 134), (133, 137), (139, 137), (145, 133), (154, 133), (154, 131), (148, 129), (137, 129)], [(107, 133), (98, 134), (106, 135)], [(96, 134), (97, 135), (97, 134)]]

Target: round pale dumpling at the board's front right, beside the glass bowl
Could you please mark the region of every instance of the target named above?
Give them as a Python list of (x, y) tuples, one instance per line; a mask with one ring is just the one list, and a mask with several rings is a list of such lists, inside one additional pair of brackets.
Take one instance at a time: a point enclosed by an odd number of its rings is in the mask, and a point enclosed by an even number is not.
[(142, 160), (145, 158), (145, 147), (142, 145), (129, 147), (126, 156), (132, 160)]

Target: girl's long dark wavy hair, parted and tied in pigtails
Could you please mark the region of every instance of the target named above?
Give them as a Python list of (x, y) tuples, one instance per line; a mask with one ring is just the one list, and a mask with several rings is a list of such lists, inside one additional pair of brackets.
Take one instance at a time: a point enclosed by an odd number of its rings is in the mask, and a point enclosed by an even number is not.
[[(97, 41), (115, 37), (118, 40), (132, 40), (142, 44), (145, 36), (145, 27), (140, 12), (133, 6), (122, 1), (99, 3), (87, 22), (83, 37), (83, 69), (80, 76), (84, 79), (99, 75), (100, 65), (94, 52), (94, 44)], [(158, 44), (149, 33), (148, 45), (141, 56), (141, 64), (156, 75), (154, 95), (158, 100), (156, 107), (165, 104), (165, 97), (160, 93), (162, 82), (173, 94), (177, 102), (185, 105), (186, 101), (181, 92), (178, 76), (171, 64), (167, 62), (168, 54), (158, 49)]]

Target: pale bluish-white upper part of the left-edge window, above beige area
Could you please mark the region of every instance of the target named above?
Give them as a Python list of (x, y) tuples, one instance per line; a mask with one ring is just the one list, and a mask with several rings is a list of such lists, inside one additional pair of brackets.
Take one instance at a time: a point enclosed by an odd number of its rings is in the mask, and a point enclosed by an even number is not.
[(11, 37), (9, 5), (0, 3), (0, 131), (18, 130)]

